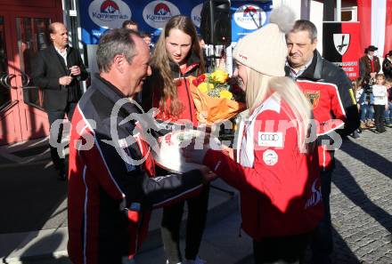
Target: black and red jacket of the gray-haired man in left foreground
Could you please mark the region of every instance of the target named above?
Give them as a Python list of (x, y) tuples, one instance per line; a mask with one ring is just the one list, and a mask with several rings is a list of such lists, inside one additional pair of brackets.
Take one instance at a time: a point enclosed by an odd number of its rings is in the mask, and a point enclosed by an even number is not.
[[(118, 100), (127, 103), (113, 116)], [(138, 125), (150, 121), (139, 114), (99, 76), (78, 102), (69, 140), (68, 250), (75, 264), (132, 259), (146, 236), (151, 208), (200, 190), (200, 171), (154, 177), (154, 160)], [(129, 116), (134, 118), (127, 121)]]

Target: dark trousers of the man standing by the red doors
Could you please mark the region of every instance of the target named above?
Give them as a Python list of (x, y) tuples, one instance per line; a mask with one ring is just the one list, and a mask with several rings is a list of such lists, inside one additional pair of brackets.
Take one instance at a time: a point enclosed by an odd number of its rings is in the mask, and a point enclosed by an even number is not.
[[(72, 115), (75, 111), (77, 104), (78, 104), (77, 102), (69, 102), (65, 110), (47, 112), (49, 124), (51, 126), (50, 135), (49, 135), (50, 141), (56, 140), (57, 143), (61, 142), (63, 124), (61, 123), (58, 129), (55, 126), (52, 126), (52, 124), (58, 119), (61, 120), (64, 119), (65, 114), (67, 114), (68, 120), (70, 121), (72, 119)], [(65, 163), (64, 163), (65, 159), (63, 156), (59, 155), (59, 151), (61, 152), (62, 150), (55, 148), (52, 145), (50, 146), (50, 148), (51, 148), (51, 156), (52, 156), (54, 168), (56, 170), (65, 170)]]

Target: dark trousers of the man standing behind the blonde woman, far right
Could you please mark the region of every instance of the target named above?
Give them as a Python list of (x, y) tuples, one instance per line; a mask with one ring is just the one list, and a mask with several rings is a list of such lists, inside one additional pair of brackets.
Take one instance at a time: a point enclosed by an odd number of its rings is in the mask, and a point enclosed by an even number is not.
[(331, 263), (331, 252), (333, 250), (330, 208), (332, 172), (332, 170), (321, 172), (324, 217), (318, 227), (315, 228), (312, 237), (312, 263), (314, 264)]

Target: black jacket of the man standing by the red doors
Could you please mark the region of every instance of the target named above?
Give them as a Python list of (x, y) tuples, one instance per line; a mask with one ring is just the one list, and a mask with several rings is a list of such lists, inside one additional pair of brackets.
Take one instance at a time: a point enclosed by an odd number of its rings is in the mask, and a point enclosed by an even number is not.
[(63, 86), (59, 84), (59, 78), (69, 76), (69, 70), (53, 44), (39, 51), (33, 60), (32, 77), (34, 84), (44, 89), (46, 111), (63, 111), (69, 101), (78, 101), (82, 95), (79, 82), (86, 80), (88, 73), (77, 49), (68, 47), (67, 64), (68, 68), (78, 66), (81, 74), (76, 76), (72, 83)]

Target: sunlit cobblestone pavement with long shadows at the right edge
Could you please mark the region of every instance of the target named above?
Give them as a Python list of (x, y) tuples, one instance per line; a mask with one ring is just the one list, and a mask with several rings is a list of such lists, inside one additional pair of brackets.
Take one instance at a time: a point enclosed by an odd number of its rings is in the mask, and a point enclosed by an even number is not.
[(334, 263), (392, 263), (392, 129), (364, 131), (336, 151)]

